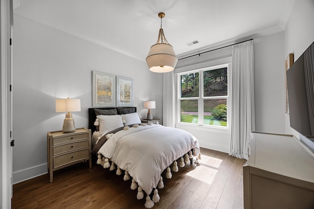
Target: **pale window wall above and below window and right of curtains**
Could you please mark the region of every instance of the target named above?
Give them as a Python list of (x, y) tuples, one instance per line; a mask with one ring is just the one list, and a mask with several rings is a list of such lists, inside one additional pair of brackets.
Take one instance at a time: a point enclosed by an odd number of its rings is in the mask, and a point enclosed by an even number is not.
[[(256, 38), (254, 43), (254, 93), (256, 130), (285, 133), (284, 32)], [(232, 47), (183, 59), (176, 72), (221, 64), (232, 54)], [(216, 60), (215, 62), (213, 60)], [(226, 63), (225, 62), (225, 63)], [(201, 147), (229, 152), (230, 129), (176, 124), (193, 134)]]

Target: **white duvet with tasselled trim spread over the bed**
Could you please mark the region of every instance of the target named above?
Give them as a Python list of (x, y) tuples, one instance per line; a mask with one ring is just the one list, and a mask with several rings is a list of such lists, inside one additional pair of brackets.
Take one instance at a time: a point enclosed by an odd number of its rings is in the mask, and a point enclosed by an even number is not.
[[(173, 164), (172, 170), (178, 172), (178, 159), (180, 159), (179, 166), (184, 167), (185, 163), (193, 162), (193, 156), (197, 156), (196, 159), (199, 159), (200, 154), (197, 139), (189, 133), (181, 129), (163, 127), (158, 124), (147, 125), (125, 126), (121, 131), (111, 133), (109, 139), (97, 152), (99, 154), (97, 163), (103, 164), (104, 168), (110, 167), (110, 171), (114, 165), (117, 165), (117, 175), (121, 175), (121, 170), (124, 170), (124, 181), (130, 180), (130, 177), (132, 177), (131, 189), (138, 190), (136, 198), (144, 198), (145, 192), (147, 195), (145, 207), (152, 208), (160, 200), (157, 188), (164, 187), (161, 177), (162, 171), (166, 169), (166, 178), (170, 179), (172, 178), (171, 164)], [(136, 144), (140, 146), (136, 146)], [(159, 149), (162, 151), (169, 149), (169, 152), (166, 151), (165, 153), (171, 154), (156, 160), (156, 158), (159, 158), (158, 153), (163, 153)], [(115, 150), (119, 150), (119, 154)], [(139, 154), (134, 154), (132, 151)], [(151, 158), (155, 160), (150, 160)], [(138, 159), (144, 160), (139, 163)], [(155, 164), (156, 161), (159, 164)], [(153, 200), (150, 198), (151, 194), (153, 194)]]

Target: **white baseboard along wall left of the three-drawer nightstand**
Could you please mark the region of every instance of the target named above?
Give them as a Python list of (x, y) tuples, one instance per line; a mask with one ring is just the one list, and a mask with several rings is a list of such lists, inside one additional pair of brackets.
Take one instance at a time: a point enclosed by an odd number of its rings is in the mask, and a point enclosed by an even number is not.
[(28, 179), (35, 178), (37, 176), (41, 176), (48, 173), (48, 165), (47, 163), (42, 165), (37, 165), (31, 168), (26, 168), (24, 170), (19, 170), (12, 173), (12, 184), (18, 184), (20, 182), (24, 182)]

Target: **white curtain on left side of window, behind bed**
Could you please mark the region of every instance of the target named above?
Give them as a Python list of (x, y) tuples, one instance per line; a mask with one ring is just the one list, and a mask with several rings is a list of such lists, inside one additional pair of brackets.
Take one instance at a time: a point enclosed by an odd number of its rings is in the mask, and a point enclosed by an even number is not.
[(163, 126), (175, 127), (175, 74), (163, 73)]

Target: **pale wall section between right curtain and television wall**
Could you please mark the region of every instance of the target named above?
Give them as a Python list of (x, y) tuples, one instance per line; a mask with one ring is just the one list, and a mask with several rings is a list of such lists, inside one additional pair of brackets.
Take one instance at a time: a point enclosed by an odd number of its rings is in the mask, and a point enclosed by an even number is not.
[(284, 32), (254, 39), (255, 130), (285, 133)]

